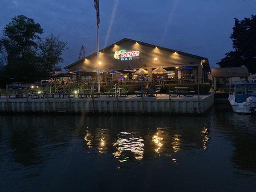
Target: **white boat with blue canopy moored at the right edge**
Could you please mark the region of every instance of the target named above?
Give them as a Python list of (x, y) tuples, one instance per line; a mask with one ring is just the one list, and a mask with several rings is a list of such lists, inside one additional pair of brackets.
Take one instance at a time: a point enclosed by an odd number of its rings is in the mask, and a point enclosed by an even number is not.
[(256, 82), (234, 83), (229, 102), (236, 113), (256, 113)]

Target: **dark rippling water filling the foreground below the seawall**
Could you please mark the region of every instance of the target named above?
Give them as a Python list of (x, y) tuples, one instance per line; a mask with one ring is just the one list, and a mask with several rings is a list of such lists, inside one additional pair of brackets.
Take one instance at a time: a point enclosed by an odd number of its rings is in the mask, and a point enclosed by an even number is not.
[(0, 116), (0, 191), (256, 192), (256, 116)]

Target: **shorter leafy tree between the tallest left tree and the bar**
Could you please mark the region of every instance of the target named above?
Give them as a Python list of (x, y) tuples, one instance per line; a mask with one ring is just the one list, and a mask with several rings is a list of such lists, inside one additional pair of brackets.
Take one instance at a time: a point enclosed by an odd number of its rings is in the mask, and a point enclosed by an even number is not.
[(63, 62), (61, 55), (62, 51), (66, 49), (66, 43), (51, 34), (42, 39), (38, 47), (40, 49), (38, 71), (41, 73), (41, 77), (47, 78), (53, 70), (60, 70), (58, 64)]

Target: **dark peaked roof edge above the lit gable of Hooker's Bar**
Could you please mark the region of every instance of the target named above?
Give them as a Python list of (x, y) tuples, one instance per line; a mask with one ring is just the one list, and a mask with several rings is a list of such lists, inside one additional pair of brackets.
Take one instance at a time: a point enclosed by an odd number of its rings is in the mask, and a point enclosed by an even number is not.
[[(102, 48), (102, 49), (99, 50), (99, 52), (104, 52), (106, 49), (112, 48), (112, 47), (114, 47), (115, 45), (121, 44), (121, 43), (124, 42), (124, 41), (131, 41), (131, 42), (134, 42), (134, 43), (137, 42), (137, 43), (139, 43), (139, 44), (141, 44), (141, 45), (149, 46), (149, 47), (152, 47), (152, 48), (157, 47), (158, 49), (162, 49), (162, 50), (166, 50), (166, 51), (170, 51), (170, 52), (177, 52), (177, 53), (179, 53), (179, 54), (181, 54), (181, 55), (186, 55), (186, 56), (193, 57), (193, 58), (200, 59), (200, 60), (206, 60), (206, 62), (208, 63), (208, 59), (205, 58), (205, 57), (201, 57), (201, 56), (198, 56), (198, 55), (193, 55), (193, 54), (190, 54), (190, 53), (185, 53), (185, 52), (178, 51), (178, 50), (174, 50), (174, 49), (171, 49), (171, 48), (164, 48), (164, 47), (161, 47), (161, 46), (158, 46), (158, 45), (148, 44), (148, 43), (144, 43), (144, 42), (141, 42), (141, 41), (136, 41), (136, 40), (134, 40), (134, 39), (128, 39), (128, 38), (123, 38), (123, 39), (121, 39), (120, 41), (117, 41), (117, 42), (111, 44), (110, 46), (108, 46), (108, 47), (106, 47), (106, 48)], [(70, 64), (70, 65), (64, 67), (64, 69), (68, 69), (68, 68), (70, 68), (71, 66), (73, 66), (73, 65), (75, 65), (75, 64), (77, 64), (77, 63), (80, 63), (81, 61), (84, 61), (85, 59), (88, 59), (88, 58), (90, 58), (90, 57), (92, 57), (92, 56), (94, 56), (94, 55), (97, 55), (97, 52), (95, 52), (95, 53), (93, 53), (93, 54), (91, 54), (91, 55), (88, 55), (88, 56), (86, 56), (85, 58), (83, 58), (83, 59), (81, 59), (81, 60), (77, 60), (77, 61), (73, 62), (72, 64)]]

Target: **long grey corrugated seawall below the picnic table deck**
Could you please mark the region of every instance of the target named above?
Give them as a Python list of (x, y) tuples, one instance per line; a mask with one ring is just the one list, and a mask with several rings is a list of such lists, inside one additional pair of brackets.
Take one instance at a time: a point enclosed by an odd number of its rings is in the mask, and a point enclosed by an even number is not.
[(198, 97), (158, 96), (157, 98), (49, 98), (49, 99), (0, 99), (0, 113), (43, 112), (43, 113), (198, 113), (203, 114), (214, 103), (213, 95)]

